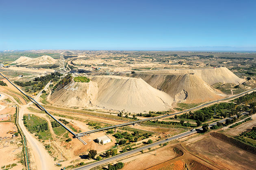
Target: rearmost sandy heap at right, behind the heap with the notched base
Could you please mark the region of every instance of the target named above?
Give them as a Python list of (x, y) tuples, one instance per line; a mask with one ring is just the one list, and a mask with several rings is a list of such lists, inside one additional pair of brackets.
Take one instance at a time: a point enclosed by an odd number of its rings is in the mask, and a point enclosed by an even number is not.
[(208, 68), (208, 69), (170, 69), (161, 71), (150, 71), (148, 73), (159, 73), (159, 74), (186, 74), (195, 73), (198, 77), (204, 80), (206, 83), (213, 85), (221, 82), (222, 84), (234, 83), (241, 84), (245, 82), (244, 79), (237, 77), (232, 71), (226, 67), (219, 68)]

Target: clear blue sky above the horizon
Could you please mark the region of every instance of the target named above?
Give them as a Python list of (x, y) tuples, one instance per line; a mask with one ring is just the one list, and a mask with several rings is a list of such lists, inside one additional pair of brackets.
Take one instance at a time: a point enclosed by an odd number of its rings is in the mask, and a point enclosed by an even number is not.
[(0, 50), (256, 50), (255, 0), (0, 0)]

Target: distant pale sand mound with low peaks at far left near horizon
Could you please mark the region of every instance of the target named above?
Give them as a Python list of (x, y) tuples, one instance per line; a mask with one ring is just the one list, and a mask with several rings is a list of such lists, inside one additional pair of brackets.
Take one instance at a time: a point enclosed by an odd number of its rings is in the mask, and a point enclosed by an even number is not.
[(11, 64), (17, 64), (17, 65), (49, 65), (56, 63), (56, 60), (52, 58), (51, 56), (41, 56), (37, 58), (29, 58), (26, 56), (21, 56)]

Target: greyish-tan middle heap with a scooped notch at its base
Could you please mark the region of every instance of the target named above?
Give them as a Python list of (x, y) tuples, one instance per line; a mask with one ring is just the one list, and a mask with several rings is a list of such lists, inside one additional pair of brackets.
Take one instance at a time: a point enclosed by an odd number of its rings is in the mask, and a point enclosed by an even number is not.
[(223, 93), (211, 87), (195, 74), (124, 74), (130, 77), (140, 77), (150, 86), (164, 91), (174, 98), (175, 102), (201, 103), (223, 98)]

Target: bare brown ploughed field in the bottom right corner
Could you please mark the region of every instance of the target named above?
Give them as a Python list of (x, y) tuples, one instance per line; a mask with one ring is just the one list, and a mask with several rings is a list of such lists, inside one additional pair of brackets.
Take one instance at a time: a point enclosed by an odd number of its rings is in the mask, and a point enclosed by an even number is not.
[(256, 164), (256, 155), (236, 148), (226, 142), (208, 135), (205, 138), (193, 142), (186, 148), (215, 166), (224, 169), (251, 170)]

